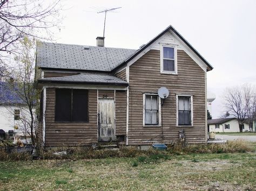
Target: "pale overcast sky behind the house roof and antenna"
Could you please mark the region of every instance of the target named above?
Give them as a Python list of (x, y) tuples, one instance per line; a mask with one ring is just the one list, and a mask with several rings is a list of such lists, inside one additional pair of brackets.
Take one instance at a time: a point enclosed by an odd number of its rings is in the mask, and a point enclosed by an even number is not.
[(71, 1), (63, 2), (65, 16), (57, 43), (138, 49), (172, 25), (214, 69), (207, 73), (207, 88), (216, 96), (212, 116), (225, 109), (221, 95), (226, 87), (256, 83), (256, 1)]

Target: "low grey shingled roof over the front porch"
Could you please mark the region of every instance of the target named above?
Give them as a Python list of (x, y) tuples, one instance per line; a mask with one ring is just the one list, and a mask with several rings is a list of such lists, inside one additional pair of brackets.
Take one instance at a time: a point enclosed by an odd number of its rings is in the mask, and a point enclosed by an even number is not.
[(64, 76), (64, 77), (48, 77), (45, 79), (40, 79), (39, 82), (56, 82), (56, 83), (100, 83), (100, 84), (120, 84), (123, 86), (127, 86), (128, 83), (119, 79), (119, 77), (113, 76), (111, 74), (106, 73), (83, 73), (72, 76)]

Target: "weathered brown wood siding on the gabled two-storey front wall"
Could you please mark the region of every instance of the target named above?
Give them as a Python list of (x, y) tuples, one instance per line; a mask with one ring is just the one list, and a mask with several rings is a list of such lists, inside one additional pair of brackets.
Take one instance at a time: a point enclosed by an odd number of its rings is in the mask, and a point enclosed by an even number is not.
[[(130, 66), (129, 145), (161, 142), (161, 127), (143, 127), (143, 93), (170, 90), (161, 115), (164, 143), (179, 138), (185, 130), (187, 143), (205, 143), (205, 72), (184, 51), (178, 50), (178, 75), (160, 74), (160, 51), (151, 50)], [(176, 126), (176, 95), (193, 95), (193, 127)]]

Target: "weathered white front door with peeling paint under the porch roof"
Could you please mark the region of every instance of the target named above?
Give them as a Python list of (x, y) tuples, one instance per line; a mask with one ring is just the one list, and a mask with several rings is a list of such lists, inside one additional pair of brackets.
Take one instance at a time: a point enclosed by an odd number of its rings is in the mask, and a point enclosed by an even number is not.
[(109, 142), (114, 140), (114, 100), (99, 98), (98, 111), (99, 141)]

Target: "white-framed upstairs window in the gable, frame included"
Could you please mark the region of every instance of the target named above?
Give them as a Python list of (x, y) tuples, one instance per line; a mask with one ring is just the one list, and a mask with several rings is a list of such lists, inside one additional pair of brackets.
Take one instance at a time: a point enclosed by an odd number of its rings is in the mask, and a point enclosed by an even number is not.
[(177, 48), (175, 46), (161, 46), (161, 73), (177, 74)]

